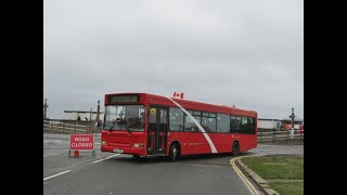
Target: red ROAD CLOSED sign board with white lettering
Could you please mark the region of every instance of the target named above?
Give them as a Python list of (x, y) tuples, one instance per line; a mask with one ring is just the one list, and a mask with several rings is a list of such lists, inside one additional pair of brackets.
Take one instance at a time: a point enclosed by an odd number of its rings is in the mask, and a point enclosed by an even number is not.
[(69, 150), (94, 150), (94, 135), (93, 134), (70, 134), (69, 135)]

